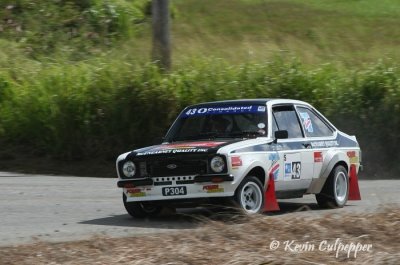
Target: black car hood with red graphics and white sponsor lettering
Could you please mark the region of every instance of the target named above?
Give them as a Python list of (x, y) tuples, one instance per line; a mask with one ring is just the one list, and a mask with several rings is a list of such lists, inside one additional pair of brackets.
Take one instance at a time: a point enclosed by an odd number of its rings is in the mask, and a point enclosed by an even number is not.
[(217, 150), (228, 144), (232, 144), (241, 140), (221, 139), (207, 141), (186, 141), (165, 143), (160, 145), (149, 146), (134, 150), (130, 156), (156, 156), (156, 155), (179, 155), (179, 154), (210, 154), (216, 153)]

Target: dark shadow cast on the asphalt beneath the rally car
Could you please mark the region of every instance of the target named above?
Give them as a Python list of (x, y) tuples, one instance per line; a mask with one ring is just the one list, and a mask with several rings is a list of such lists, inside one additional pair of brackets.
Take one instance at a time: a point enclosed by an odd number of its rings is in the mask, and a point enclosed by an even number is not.
[[(351, 205), (350, 205), (351, 206)], [(303, 211), (325, 211), (316, 203), (279, 202), (280, 211), (265, 213), (264, 216), (279, 216)], [(349, 207), (347, 205), (346, 207)], [(88, 225), (116, 227), (139, 227), (158, 229), (193, 229), (210, 221), (226, 224), (243, 223), (246, 216), (229, 208), (188, 208), (176, 212), (163, 212), (159, 217), (134, 219), (128, 214), (113, 215), (80, 222)]]

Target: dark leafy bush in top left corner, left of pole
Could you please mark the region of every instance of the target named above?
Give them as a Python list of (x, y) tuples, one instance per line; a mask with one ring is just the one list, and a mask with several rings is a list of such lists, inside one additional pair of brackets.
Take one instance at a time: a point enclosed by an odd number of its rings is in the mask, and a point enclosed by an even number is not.
[(0, 3), (0, 36), (38, 58), (60, 53), (82, 59), (133, 37), (148, 0), (18, 0)]

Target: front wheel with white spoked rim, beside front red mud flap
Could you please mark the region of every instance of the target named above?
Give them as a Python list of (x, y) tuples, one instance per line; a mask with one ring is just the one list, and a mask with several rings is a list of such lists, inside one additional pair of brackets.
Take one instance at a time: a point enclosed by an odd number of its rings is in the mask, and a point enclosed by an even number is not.
[(264, 208), (264, 188), (254, 176), (247, 176), (234, 195), (236, 205), (246, 214), (261, 213)]

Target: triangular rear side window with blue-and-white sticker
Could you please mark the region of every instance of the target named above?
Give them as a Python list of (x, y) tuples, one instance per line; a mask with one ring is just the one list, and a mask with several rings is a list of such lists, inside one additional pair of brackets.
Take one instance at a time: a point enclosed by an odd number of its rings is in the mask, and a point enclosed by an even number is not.
[(332, 136), (333, 130), (311, 109), (297, 107), (307, 137)]

